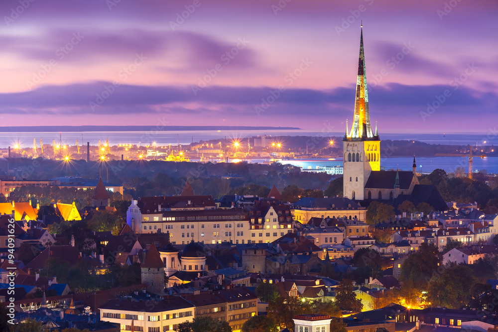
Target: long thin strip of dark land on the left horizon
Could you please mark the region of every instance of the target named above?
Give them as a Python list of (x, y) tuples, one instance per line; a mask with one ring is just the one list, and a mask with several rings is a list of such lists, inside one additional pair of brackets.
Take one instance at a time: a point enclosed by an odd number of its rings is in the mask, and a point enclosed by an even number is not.
[(3, 132), (78, 132), (78, 131), (183, 131), (183, 130), (289, 130), (298, 127), (250, 127), (214, 125), (39, 125), (0, 127)]

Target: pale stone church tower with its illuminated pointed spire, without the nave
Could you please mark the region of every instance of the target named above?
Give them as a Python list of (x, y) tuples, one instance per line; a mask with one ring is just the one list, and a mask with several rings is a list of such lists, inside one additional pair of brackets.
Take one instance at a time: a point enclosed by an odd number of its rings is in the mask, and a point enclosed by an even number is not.
[(380, 170), (380, 138), (377, 133), (377, 123), (375, 122), (375, 132), (372, 131), (370, 123), (367, 69), (363, 49), (363, 24), (361, 27), (353, 126), (350, 130), (346, 121), (346, 133), (343, 138), (343, 196), (359, 201), (366, 199), (365, 185), (370, 173)]

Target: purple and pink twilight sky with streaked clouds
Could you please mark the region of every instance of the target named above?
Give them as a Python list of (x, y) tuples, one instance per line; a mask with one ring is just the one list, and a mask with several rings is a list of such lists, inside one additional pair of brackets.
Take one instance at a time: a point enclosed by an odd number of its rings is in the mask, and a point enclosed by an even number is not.
[(497, 132), (496, 0), (2, 0), (0, 126)]

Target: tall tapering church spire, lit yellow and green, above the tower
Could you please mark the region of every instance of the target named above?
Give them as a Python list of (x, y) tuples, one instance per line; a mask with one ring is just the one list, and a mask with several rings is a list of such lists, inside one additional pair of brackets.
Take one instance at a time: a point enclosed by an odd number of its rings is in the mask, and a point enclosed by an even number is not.
[(363, 22), (360, 36), (360, 57), (358, 61), (358, 77), (356, 82), (355, 113), (353, 128), (348, 138), (373, 138), (370, 123), (369, 96), (367, 90), (367, 67), (365, 66), (365, 52), (363, 47)]

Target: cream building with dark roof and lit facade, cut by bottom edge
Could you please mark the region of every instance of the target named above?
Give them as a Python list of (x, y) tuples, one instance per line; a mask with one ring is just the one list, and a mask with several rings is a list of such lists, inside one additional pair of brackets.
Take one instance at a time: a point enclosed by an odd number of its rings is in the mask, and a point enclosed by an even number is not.
[(174, 331), (194, 317), (195, 307), (180, 297), (166, 297), (158, 302), (111, 300), (99, 308), (101, 321), (120, 326), (120, 331)]

